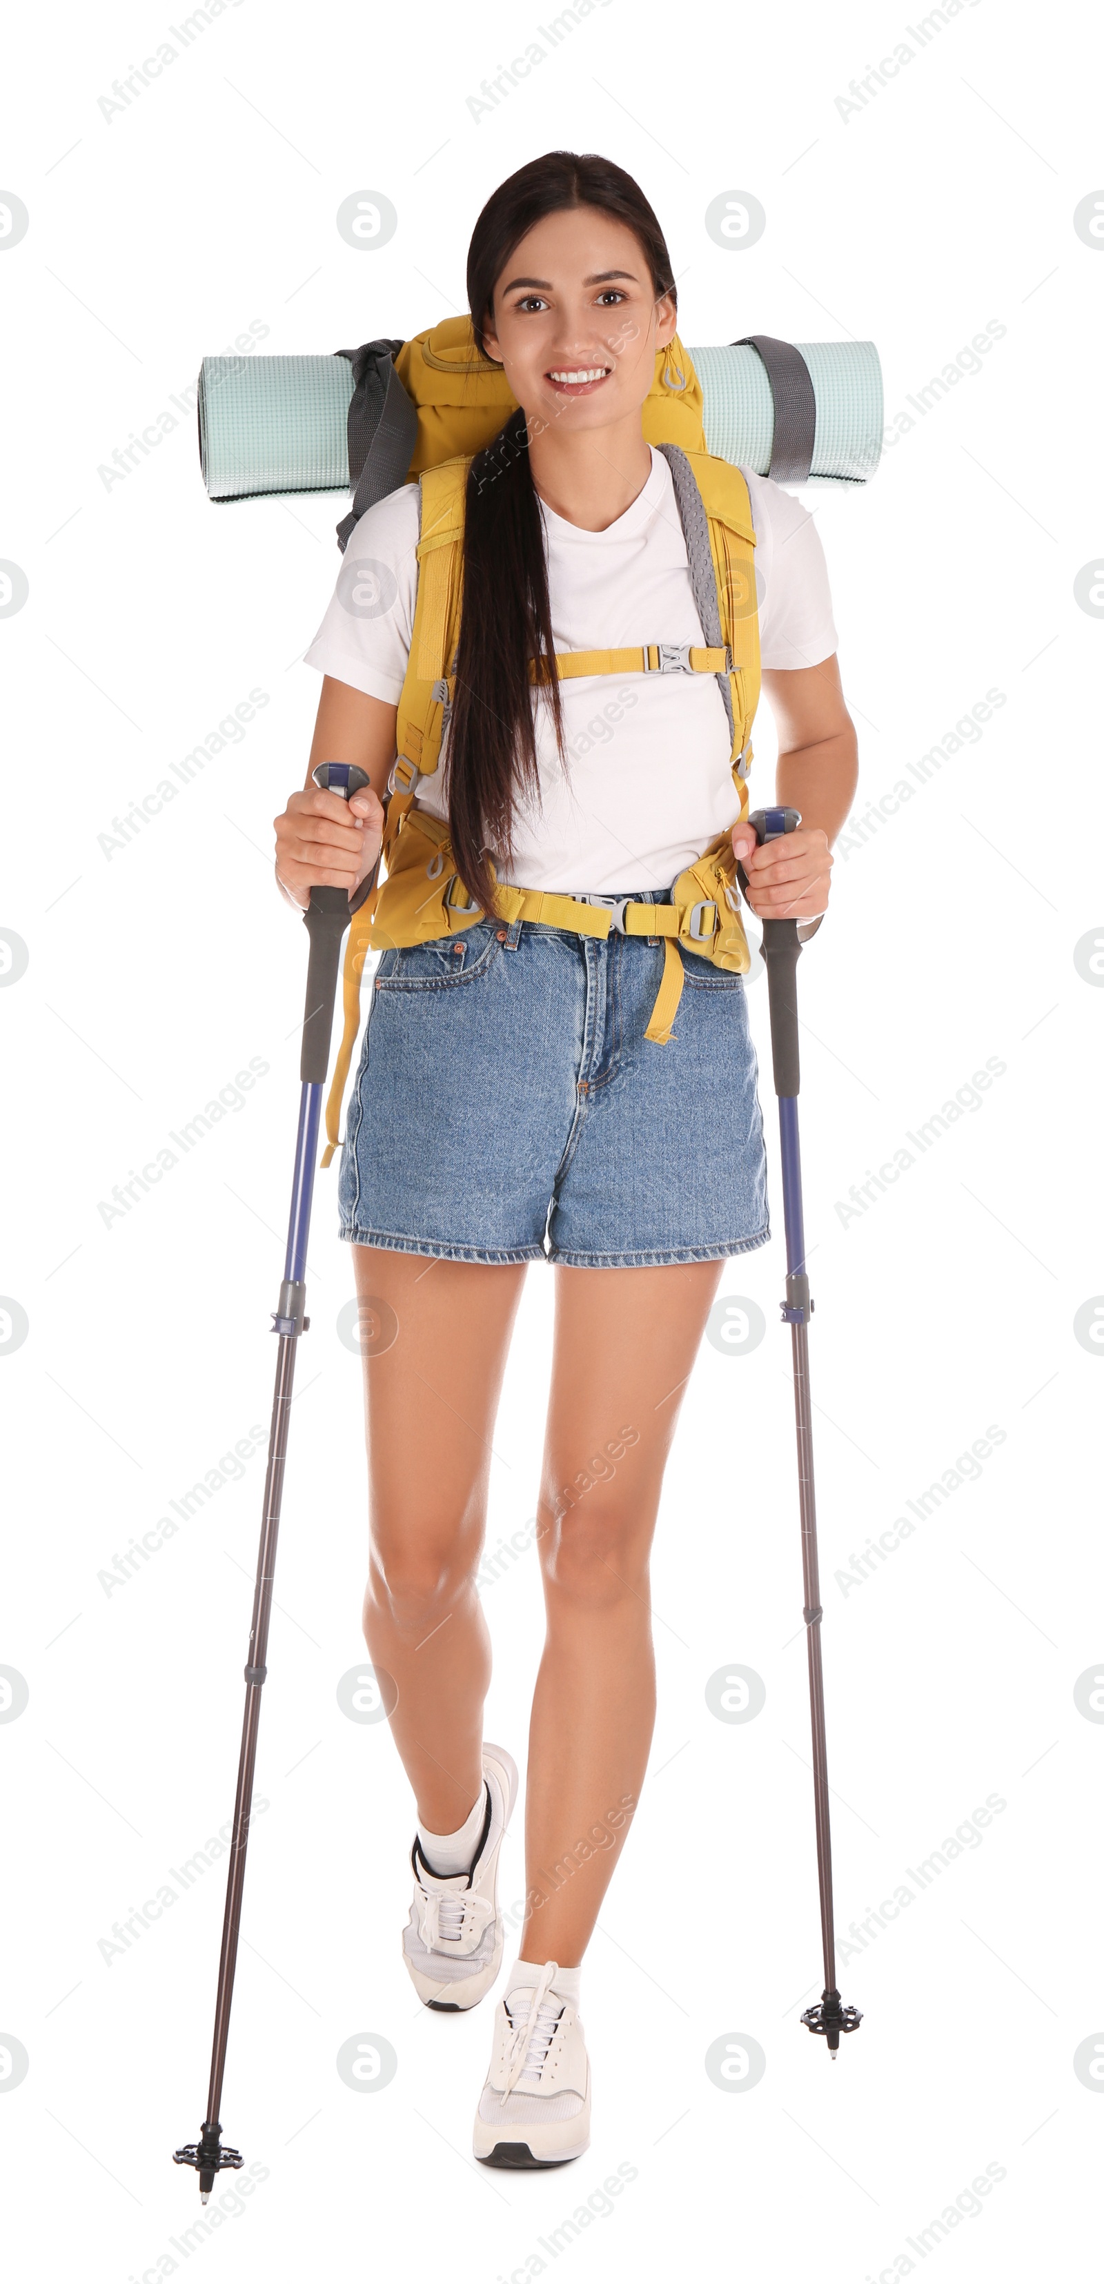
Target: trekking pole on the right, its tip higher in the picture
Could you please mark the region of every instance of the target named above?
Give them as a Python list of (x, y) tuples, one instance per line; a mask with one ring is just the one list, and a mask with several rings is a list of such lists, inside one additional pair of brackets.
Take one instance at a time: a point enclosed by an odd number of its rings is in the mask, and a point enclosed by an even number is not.
[[(754, 809), (747, 818), (759, 847), (777, 841), (800, 825), (798, 809)], [(747, 895), (747, 875), (738, 866), (741, 888)], [(809, 1647), (809, 1711), (814, 1731), (814, 1800), (816, 1800), (816, 1868), (821, 1880), (821, 1937), (825, 1955), (825, 1989), (818, 2005), (805, 2008), (802, 2021), (809, 2030), (827, 2040), (832, 2060), (839, 2053), (839, 2033), (857, 2030), (862, 2014), (843, 2005), (837, 1989), (837, 1930), (832, 1909), (832, 1832), (827, 1820), (827, 1745), (825, 1745), (825, 1681), (821, 1667), (821, 1576), (816, 1560), (816, 1491), (814, 1491), (814, 1418), (809, 1396), (809, 1274), (805, 1268), (805, 1208), (802, 1169), (798, 1142), (798, 920), (763, 920), (763, 962), (770, 996), (770, 1053), (775, 1062), (777, 1121), (782, 1140), (782, 1204), (786, 1215), (786, 1300), (782, 1322), (791, 1329), (793, 1348), (793, 1412), (798, 1423), (798, 1491), (802, 1523), (802, 1571), (805, 1571), (805, 1640)]]

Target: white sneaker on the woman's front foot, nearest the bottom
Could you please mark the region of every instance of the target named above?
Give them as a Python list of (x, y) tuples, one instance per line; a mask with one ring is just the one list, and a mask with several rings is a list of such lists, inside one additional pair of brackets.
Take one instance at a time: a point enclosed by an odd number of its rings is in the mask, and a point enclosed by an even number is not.
[(574, 1998), (555, 1989), (555, 1960), (535, 1992), (507, 1992), (494, 2014), (494, 2053), (475, 2110), (485, 2165), (567, 2165), (590, 2147), (590, 2062)]

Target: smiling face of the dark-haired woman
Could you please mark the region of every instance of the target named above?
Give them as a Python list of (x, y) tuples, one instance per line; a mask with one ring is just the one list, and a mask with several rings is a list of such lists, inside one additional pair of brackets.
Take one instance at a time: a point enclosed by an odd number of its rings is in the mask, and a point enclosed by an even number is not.
[(601, 208), (571, 206), (514, 247), (485, 343), (530, 420), (601, 429), (640, 411), (674, 322), (633, 231)]

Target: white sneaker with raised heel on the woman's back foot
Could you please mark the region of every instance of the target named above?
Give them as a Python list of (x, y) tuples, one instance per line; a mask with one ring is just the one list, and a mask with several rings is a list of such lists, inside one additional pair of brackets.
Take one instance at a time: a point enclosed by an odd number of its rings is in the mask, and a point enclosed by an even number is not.
[(439, 1880), (418, 1839), (411, 1848), (414, 1903), (402, 1930), (402, 1957), (418, 1998), (439, 2014), (478, 2005), (503, 1964), (498, 1848), (517, 1800), (517, 1766), (501, 1745), (482, 1747), (487, 1813), (471, 1871)]

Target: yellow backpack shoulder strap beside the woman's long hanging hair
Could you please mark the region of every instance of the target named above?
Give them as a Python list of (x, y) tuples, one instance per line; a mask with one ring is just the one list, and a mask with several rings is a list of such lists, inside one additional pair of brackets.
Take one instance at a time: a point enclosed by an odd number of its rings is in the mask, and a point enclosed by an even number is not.
[[(418, 477), (418, 594), (407, 676), (398, 701), (398, 761), (423, 777), (437, 770), (448, 717), (448, 683), (459, 635), (464, 489), (471, 459), (443, 459)], [(402, 770), (400, 770), (402, 777)]]

